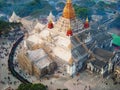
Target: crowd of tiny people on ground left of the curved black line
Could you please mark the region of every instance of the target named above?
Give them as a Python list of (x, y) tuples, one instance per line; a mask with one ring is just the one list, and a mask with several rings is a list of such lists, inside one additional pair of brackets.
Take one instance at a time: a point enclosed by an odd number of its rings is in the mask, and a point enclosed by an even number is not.
[(13, 30), (0, 37), (0, 88), (5, 88), (6, 85), (16, 86), (20, 84), (20, 81), (15, 79), (8, 69), (8, 57), (14, 42), (22, 35), (22, 31)]

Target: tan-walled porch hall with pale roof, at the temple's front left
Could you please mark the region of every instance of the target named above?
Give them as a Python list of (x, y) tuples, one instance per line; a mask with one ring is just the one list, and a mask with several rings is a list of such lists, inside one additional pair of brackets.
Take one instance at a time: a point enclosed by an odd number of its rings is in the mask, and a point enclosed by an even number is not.
[(28, 50), (18, 55), (18, 62), (22, 69), (28, 71), (30, 75), (40, 78), (51, 74), (57, 68), (57, 64), (51, 60), (43, 49)]

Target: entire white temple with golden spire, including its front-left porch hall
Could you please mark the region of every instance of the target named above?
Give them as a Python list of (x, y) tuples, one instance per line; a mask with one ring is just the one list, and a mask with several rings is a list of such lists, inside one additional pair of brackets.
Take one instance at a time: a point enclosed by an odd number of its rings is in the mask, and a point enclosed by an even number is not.
[[(32, 31), (25, 33), (18, 60), (29, 74), (39, 78), (60, 69), (74, 76), (88, 59), (104, 63), (104, 57), (101, 57), (102, 60), (99, 57), (101, 55), (96, 54), (101, 49), (95, 47), (88, 18), (85, 22), (77, 19), (71, 0), (66, 1), (63, 14), (57, 21), (52, 12), (47, 19), (47, 24), (38, 22)], [(98, 52), (92, 54), (93, 49)], [(114, 57), (113, 53), (108, 54), (111, 55), (108, 55), (109, 60)], [(92, 62), (89, 62), (88, 69), (92, 67), (90, 63)], [(103, 69), (101, 68), (100, 70)]]

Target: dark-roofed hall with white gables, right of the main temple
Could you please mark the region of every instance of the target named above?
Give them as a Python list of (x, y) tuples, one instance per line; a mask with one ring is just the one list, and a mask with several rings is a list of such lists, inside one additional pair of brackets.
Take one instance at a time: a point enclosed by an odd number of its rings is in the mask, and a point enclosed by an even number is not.
[(87, 63), (87, 69), (93, 73), (101, 74), (103, 77), (109, 75), (114, 70), (116, 55), (113, 52), (101, 48), (93, 49), (94, 58)]

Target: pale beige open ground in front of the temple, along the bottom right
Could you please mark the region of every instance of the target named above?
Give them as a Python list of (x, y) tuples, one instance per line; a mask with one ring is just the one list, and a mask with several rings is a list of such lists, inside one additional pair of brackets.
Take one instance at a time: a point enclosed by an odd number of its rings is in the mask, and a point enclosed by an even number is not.
[(49, 90), (65, 88), (68, 88), (68, 90), (120, 90), (120, 84), (114, 85), (112, 79), (103, 79), (101, 76), (90, 74), (87, 71), (74, 78), (51, 78), (42, 80), (41, 83), (48, 85)]

